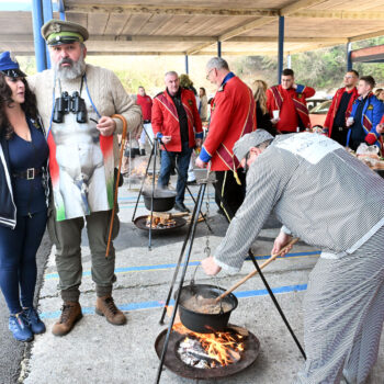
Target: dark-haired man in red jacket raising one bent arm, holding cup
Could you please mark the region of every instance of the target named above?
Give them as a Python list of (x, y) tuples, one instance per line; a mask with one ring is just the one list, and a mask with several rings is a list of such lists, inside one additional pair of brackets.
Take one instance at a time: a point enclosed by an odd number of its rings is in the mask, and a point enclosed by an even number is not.
[(295, 83), (292, 69), (283, 70), (281, 84), (267, 90), (267, 108), (278, 132), (291, 134), (309, 128), (306, 99), (314, 94), (313, 88)]

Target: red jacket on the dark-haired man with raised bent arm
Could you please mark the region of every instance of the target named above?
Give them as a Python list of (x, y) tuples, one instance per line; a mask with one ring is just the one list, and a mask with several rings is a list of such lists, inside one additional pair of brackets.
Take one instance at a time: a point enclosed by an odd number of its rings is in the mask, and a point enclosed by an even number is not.
[[(281, 108), (272, 88), (278, 91), (278, 98), (281, 98)], [(312, 98), (316, 91), (310, 87), (300, 84), (297, 84), (297, 89), (284, 89), (281, 84), (272, 88), (267, 90), (267, 108), (271, 117), (273, 117), (273, 111), (280, 110), (280, 121), (276, 124), (276, 129), (280, 132), (297, 132), (300, 126), (298, 116), (304, 127), (308, 128), (310, 122), (306, 99)]]

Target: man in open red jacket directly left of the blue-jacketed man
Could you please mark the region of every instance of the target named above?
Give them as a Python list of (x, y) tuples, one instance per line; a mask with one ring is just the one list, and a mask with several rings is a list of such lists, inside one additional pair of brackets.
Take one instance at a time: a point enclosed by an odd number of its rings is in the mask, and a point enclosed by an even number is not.
[(355, 87), (358, 81), (359, 72), (354, 69), (351, 69), (346, 74), (345, 87), (339, 88), (336, 91), (324, 123), (324, 128), (328, 129), (328, 137), (338, 142), (342, 146), (347, 145), (347, 118), (352, 112), (354, 100), (359, 98), (358, 89)]

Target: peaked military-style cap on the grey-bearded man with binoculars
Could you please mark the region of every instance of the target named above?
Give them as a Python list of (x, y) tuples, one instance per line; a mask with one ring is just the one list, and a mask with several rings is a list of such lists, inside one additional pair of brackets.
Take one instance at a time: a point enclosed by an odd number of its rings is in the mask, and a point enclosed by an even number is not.
[(82, 43), (89, 38), (87, 29), (71, 21), (52, 19), (42, 26), (42, 36), (48, 45)]

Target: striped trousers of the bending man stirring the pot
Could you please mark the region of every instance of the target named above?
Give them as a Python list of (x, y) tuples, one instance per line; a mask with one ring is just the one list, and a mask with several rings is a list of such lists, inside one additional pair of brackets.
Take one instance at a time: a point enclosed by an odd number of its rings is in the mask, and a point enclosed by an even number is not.
[(319, 259), (304, 297), (307, 360), (298, 384), (364, 383), (384, 321), (384, 227), (341, 259)]

